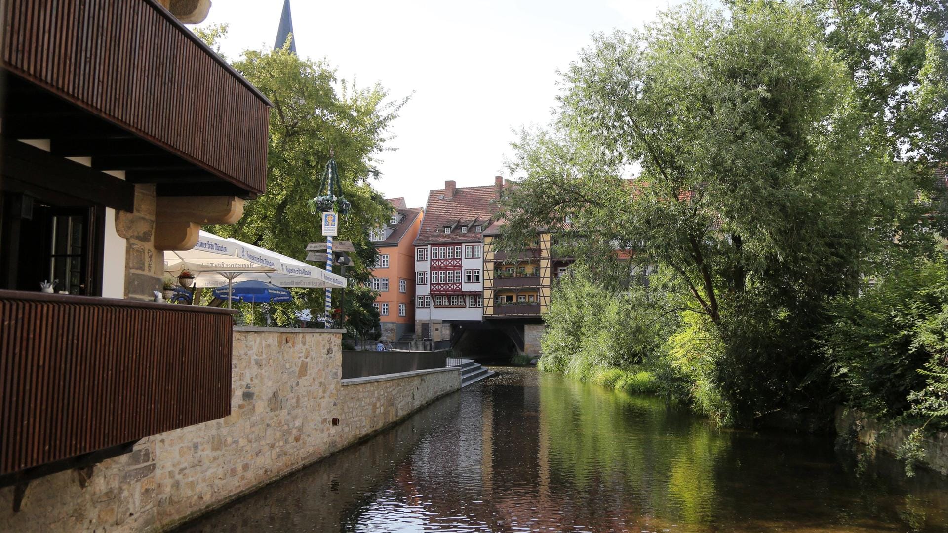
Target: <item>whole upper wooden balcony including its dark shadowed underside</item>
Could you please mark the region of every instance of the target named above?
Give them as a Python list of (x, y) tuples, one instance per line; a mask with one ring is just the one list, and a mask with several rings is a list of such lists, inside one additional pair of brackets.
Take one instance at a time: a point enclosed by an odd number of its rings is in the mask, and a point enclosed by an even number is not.
[(48, 139), (159, 195), (264, 193), (270, 102), (153, 0), (0, 9), (6, 138)]

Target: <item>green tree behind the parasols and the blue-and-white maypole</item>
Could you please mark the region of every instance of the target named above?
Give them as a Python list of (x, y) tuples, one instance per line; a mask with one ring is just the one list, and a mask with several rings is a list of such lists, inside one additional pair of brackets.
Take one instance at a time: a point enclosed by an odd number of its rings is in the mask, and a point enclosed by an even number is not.
[[(227, 28), (199, 28), (196, 32), (215, 46), (226, 36)], [(288, 46), (246, 50), (232, 64), (273, 102), (266, 193), (246, 202), (244, 216), (236, 224), (207, 230), (304, 259), (308, 243), (324, 240), (319, 216), (309, 211), (307, 200), (319, 195), (319, 180), (333, 156), (343, 195), (352, 203), (352, 211), (340, 219), (338, 239), (356, 247), (353, 265), (347, 269), (347, 315), (364, 315), (360, 305), (374, 299), (372, 290), (364, 285), (377, 255), (369, 231), (384, 224), (392, 212), (391, 205), (373, 188), (372, 180), (378, 176), (374, 163), (382, 152), (391, 150), (386, 145), (391, 139), (389, 128), (408, 99), (389, 100), (388, 91), (377, 83), (357, 88), (338, 80), (328, 64), (303, 59)], [(294, 294), (296, 307), (319, 313), (321, 290), (295, 290)], [(278, 322), (291, 321), (292, 314), (287, 313), (276, 315)]]

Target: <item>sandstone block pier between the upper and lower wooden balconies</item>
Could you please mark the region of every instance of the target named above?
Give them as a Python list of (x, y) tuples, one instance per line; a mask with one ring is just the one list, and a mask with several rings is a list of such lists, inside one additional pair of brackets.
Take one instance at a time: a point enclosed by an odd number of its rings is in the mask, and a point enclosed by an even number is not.
[(135, 212), (116, 211), (116, 233), (125, 245), (125, 298), (155, 300), (165, 271), (164, 252), (155, 248), (155, 185), (135, 186)]

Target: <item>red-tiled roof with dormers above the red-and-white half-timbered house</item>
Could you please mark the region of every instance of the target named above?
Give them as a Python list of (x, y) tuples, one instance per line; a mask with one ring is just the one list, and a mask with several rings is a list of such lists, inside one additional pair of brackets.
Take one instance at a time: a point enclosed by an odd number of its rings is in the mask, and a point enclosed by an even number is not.
[[(490, 217), (498, 211), (497, 191), (495, 185), (458, 187), (448, 198), (446, 189), (432, 189), (428, 192), (425, 220), (415, 244), (481, 242), (481, 233), (474, 228), (481, 225), (486, 230), (490, 225)], [(466, 233), (461, 232), (462, 226), (467, 228)], [(447, 235), (445, 227), (451, 228)]]

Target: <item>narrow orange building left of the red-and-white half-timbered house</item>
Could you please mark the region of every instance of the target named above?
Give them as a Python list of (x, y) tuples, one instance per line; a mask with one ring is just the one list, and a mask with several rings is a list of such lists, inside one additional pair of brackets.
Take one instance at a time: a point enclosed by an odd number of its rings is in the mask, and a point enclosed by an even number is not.
[(382, 323), (382, 339), (398, 340), (414, 331), (414, 240), (421, 228), (424, 211), (406, 208), (405, 198), (388, 200), (395, 208), (384, 228), (371, 238), (378, 248), (378, 262), (372, 271), (372, 285), (380, 292), (375, 299)]

